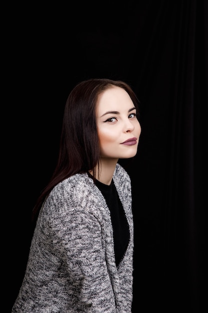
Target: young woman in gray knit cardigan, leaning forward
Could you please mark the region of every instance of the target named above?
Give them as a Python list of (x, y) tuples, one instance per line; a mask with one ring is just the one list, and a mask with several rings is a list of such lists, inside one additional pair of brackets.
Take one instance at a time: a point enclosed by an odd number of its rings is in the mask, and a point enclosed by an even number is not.
[(137, 153), (137, 114), (123, 81), (89, 79), (69, 94), (13, 313), (131, 312), (131, 181), (118, 160)]

